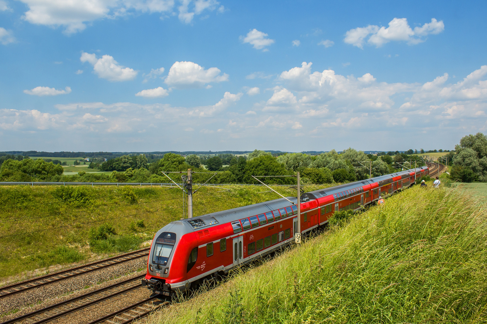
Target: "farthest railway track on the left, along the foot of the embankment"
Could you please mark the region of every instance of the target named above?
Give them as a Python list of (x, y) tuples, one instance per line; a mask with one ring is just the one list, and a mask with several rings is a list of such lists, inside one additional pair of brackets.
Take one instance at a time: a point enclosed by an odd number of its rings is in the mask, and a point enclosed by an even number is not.
[(17, 294), (26, 290), (31, 290), (37, 287), (48, 285), (54, 282), (58, 282), (64, 279), (73, 278), (80, 274), (93, 272), (103, 268), (107, 268), (113, 265), (121, 264), (130, 260), (134, 260), (143, 256), (149, 255), (150, 248), (145, 248), (130, 253), (125, 253), (119, 256), (114, 256), (108, 259), (84, 264), (79, 267), (66, 269), (56, 273), (46, 274), (30, 280), (18, 282), (12, 285), (4, 286), (0, 288), (0, 298)]

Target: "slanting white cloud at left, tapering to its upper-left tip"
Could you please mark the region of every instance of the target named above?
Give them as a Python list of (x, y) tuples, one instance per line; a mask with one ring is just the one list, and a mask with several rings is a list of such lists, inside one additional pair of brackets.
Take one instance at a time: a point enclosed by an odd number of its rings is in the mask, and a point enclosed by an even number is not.
[(88, 62), (93, 65), (93, 71), (99, 78), (109, 81), (128, 81), (137, 76), (138, 71), (132, 68), (125, 68), (118, 64), (110, 55), (103, 55), (97, 59), (95, 54), (89, 54), (86, 52), (81, 53), (79, 60), (82, 63)]

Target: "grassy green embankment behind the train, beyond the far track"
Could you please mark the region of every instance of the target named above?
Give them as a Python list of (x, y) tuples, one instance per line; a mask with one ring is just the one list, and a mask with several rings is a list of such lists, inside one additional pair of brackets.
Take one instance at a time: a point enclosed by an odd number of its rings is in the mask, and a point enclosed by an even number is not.
[[(55, 197), (56, 190), (62, 189), (59, 186), (0, 187), (0, 237), (20, 234), (0, 238), (0, 278), (94, 256), (88, 244), (89, 231), (105, 222), (111, 223), (117, 234), (112, 238), (112, 248), (107, 251), (124, 252), (136, 248), (141, 241), (152, 239), (159, 228), (182, 217), (179, 189), (70, 188), (77, 190), (73, 201)], [(257, 186), (227, 188), (230, 191), (201, 188), (193, 197), (194, 215), (279, 198), (273, 192), (266, 192), (267, 188)], [(284, 195), (295, 194), (295, 190), (286, 187), (277, 190)], [(133, 226), (137, 220), (143, 220), (146, 227)], [(58, 228), (61, 226), (67, 227)]]

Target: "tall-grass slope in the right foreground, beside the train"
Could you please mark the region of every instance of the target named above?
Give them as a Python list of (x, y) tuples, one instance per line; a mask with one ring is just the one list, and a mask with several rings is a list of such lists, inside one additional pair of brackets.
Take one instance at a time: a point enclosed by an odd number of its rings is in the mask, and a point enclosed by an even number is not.
[(415, 186), (150, 323), (487, 323), (487, 213), (471, 200)]

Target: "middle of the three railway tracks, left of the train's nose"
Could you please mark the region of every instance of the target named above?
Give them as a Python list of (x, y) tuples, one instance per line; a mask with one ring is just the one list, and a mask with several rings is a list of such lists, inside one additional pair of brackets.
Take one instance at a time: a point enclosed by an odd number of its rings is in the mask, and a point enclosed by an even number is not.
[[(103, 296), (101, 296), (99, 298), (96, 298), (96, 299), (89, 298), (91, 296), (97, 295), (97, 294), (102, 293), (104, 291), (112, 290), (113, 288), (117, 288), (117, 287), (123, 286), (123, 285), (125, 285), (127, 283), (136, 282), (136, 281), (138, 281), (140, 278), (142, 278), (144, 276), (145, 276), (145, 274), (141, 274), (141, 275), (138, 275), (138, 276), (135, 276), (135, 277), (126, 279), (124, 281), (117, 282), (117, 283), (112, 284), (110, 286), (107, 286), (105, 288), (100, 288), (100, 289), (94, 290), (92, 292), (88, 292), (88, 293), (85, 293), (83, 295), (80, 295), (80, 296), (77, 296), (77, 297), (74, 297), (74, 298), (70, 298), (70, 299), (65, 300), (63, 302), (59, 302), (57, 304), (54, 304), (54, 305), (51, 305), (51, 306), (48, 306), (48, 307), (44, 307), (44, 308), (38, 309), (36, 311), (30, 312), (28, 314), (24, 314), (22, 316), (16, 317), (14, 319), (8, 320), (8, 321), (3, 322), (3, 323), (0, 323), (0, 324), (19, 323), (20, 321), (25, 320), (25, 319), (28, 319), (27, 322), (29, 324), (42, 324), (42, 323), (46, 323), (46, 322), (52, 321), (52, 320), (54, 320), (54, 319), (56, 319), (58, 317), (61, 317), (61, 316), (64, 316), (64, 315), (73, 313), (73, 312), (75, 312), (77, 310), (80, 310), (80, 309), (83, 309), (83, 308), (92, 306), (94, 304), (97, 304), (97, 303), (102, 302), (104, 300), (107, 300), (107, 299), (110, 299), (112, 297), (118, 296), (118, 295), (123, 294), (125, 292), (129, 292), (131, 290), (134, 290), (134, 289), (137, 289), (137, 288), (141, 288), (141, 284), (138, 283), (138, 284), (135, 284), (135, 285), (130, 286), (128, 288), (125, 288), (125, 289), (122, 289), (122, 290), (119, 290), (119, 291), (112, 292), (112, 293), (110, 293), (108, 295), (103, 295)], [(86, 301), (86, 302), (83, 303), (83, 301), (81, 301), (82, 299), (88, 299), (88, 301)], [(77, 302), (77, 301), (80, 301), (80, 303), (82, 303), (82, 304), (81, 305), (79, 305), (79, 304), (73, 304), (74, 302)], [(69, 307), (69, 304), (72, 304), (73, 307)], [(63, 308), (67, 308), (67, 309), (64, 310), (64, 311), (61, 311), (61, 309), (59, 309), (58, 307), (63, 307)], [(56, 313), (56, 314), (47, 313), (48, 316), (46, 316), (46, 317), (38, 316), (38, 315), (40, 315), (42, 313), (48, 312), (49, 310), (55, 310), (58, 313)], [(39, 321), (36, 321), (35, 319), (32, 319), (32, 317), (34, 317), (34, 316), (37, 316), (37, 318), (41, 318), (41, 319)]]

